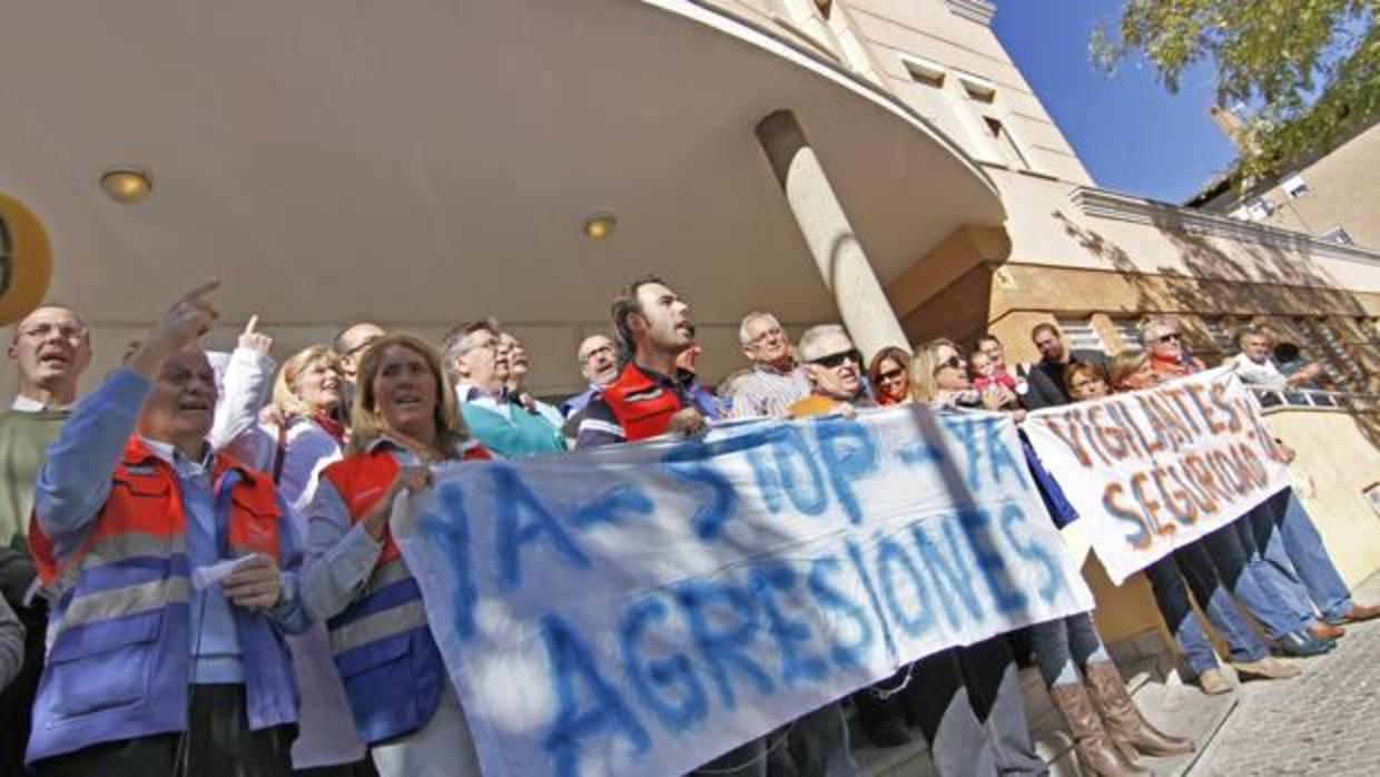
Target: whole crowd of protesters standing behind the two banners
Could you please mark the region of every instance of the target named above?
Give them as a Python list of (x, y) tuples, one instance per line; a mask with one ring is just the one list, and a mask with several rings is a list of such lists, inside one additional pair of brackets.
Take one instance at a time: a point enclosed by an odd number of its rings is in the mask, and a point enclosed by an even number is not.
[[(1039, 324), (1034, 364), (1009, 364), (991, 335), (966, 355), (949, 340), (894, 344), (864, 364), (843, 326), (793, 345), (776, 316), (752, 312), (738, 330), (751, 367), (715, 393), (696, 375), (687, 301), (649, 276), (613, 301), (609, 335), (580, 344), (588, 388), (552, 404), (526, 386), (522, 341), (493, 320), (439, 346), (355, 323), (276, 373), (272, 340), (250, 322), (213, 364), (200, 338), (218, 317), (215, 288), (179, 298), (80, 402), (91, 346), (79, 313), (44, 306), (14, 328), (18, 395), (0, 415), (0, 773), (479, 774), (388, 530), (393, 497), (429, 487), (432, 464), (911, 403), (1021, 421), (1203, 368), (1163, 316), (1143, 323), (1144, 351), (1112, 360)], [(1243, 381), (1285, 391), (1318, 374), (1282, 371), (1263, 328), (1239, 344)], [(1056, 523), (1075, 520), (1025, 453)], [(1208, 694), (1232, 690), (1224, 662), (1296, 676), (1275, 656), (1323, 654), (1344, 624), (1380, 617), (1352, 602), (1290, 490), (1144, 574)], [(923, 737), (944, 776), (1046, 773), (1017, 680), (1027, 660), (1086, 773), (1151, 774), (1141, 755), (1194, 749), (1140, 714), (1090, 614), (1023, 636), (925, 657), (698, 773), (853, 774), (849, 709), (875, 747)]]

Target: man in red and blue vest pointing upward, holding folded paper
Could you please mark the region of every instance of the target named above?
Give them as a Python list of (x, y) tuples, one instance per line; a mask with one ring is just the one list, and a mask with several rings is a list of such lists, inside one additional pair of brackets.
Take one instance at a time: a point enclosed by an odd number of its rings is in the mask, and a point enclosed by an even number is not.
[[(306, 628), (272, 479), (207, 443), (210, 283), (179, 298), (48, 450), (29, 544), (55, 602), (28, 760), (37, 774), (286, 776)], [(193, 567), (244, 559), (190, 591)]]

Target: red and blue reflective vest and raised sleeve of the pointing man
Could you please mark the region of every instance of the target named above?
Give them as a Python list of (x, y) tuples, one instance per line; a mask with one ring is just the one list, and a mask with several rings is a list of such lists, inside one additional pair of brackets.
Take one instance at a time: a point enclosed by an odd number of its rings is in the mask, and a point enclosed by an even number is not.
[[(128, 436), (148, 386), (117, 373), (77, 406), (40, 471), (30, 547), (57, 604), (29, 762), (188, 725), (188, 516), (177, 473)], [(293, 723), (297, 686), (282, 631), (308, 621), (291, 571), (291, 522), (268, 476), (224, 455), (214, 473), (230, 558), (261, 552), (284, 570), (272, 613), (232, 607), (248, 723)]]

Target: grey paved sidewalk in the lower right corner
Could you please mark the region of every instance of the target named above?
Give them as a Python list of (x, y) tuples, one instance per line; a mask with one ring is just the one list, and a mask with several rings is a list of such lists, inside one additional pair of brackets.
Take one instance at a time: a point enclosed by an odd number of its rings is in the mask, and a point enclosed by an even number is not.
[[(1380, 602), (1380, 576), (1354, 593)], [(1380, 774), (1380, 621), (1348, 625), (1336, 650), (1299, 665), (1299, 678), (1238, 691), (1192, 777)]]

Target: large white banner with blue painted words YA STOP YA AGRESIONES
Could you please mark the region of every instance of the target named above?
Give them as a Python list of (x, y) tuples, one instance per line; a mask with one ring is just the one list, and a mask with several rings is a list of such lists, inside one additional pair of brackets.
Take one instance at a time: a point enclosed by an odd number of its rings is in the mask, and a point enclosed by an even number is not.
[(393, 533), (490, 777), (679, 774), (926, 654), (1092, 607), (989, 414), (461, 464)]

